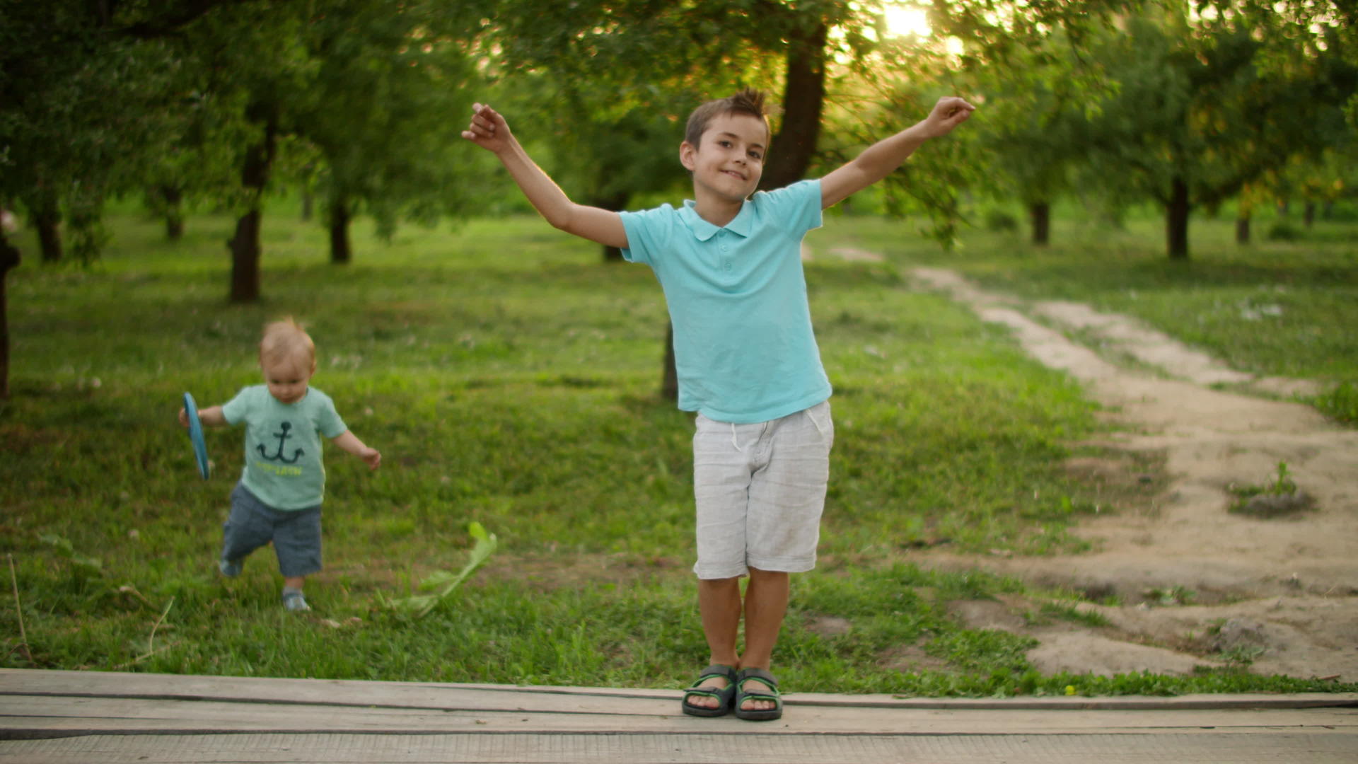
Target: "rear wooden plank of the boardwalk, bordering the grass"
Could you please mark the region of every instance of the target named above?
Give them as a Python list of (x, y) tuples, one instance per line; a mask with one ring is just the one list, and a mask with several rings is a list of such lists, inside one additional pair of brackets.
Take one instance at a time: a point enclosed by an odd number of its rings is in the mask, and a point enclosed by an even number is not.
[[(637, 712), (637, 699), (676, 704), (679, 689), (618, 689), (516, 687), (486, 684), (391, 682), (273, 677), (209, 677), (117, 672), (52, 672), (0, 669), (3, 695), (95, 695), (107, 697), (251, 699), (280, 703), (334, 703), (439, 710), (559, 710)], [(1358, 707), (1358, 693), (1186, 695), (1176, 697), (899, 697), (891, 695), (786, 693), (789, 707), (843, 706), (854, 708), (940, 710), (1188, 710), (1188, 708), (1313, 708)], [(660, 714), (661, 706), (645, 706)]]

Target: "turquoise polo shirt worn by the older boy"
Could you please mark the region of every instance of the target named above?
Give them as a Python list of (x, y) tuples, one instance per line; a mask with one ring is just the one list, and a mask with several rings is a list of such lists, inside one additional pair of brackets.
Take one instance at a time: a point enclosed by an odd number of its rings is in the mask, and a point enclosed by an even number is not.
[(830, 397), (801, 271), (820, 181), (756, 192), (721, 228), (693, 200), (621, 216), (623, 258), (649, 265), (665, 292), (680, 409), (747, 424)]

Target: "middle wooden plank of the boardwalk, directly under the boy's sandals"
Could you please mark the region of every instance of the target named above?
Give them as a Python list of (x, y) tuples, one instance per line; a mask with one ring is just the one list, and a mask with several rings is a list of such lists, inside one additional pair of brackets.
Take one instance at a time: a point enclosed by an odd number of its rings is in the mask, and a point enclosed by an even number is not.
[[(656, 703), (656, 701), (646, 701)], [(8, 696), (0, 703), (0, 737), (136, 733), (629, 733), (629, 734), (1131, 734), (1146, 731), (1358, 733), (1358, 711), (1190, 710), (949, 711), (918, 708), (818, 707), (789, 711), (773, 723), (724, 716), (699, 719), (665, 704), (668, 714), (589, 714), (538, 711), (428, 711), (417, 708), (228, 703), (216, 700)]]

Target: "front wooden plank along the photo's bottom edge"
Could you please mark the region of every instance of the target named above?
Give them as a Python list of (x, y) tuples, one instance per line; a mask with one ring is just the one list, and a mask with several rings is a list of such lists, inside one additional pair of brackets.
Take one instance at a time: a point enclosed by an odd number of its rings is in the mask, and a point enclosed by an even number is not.
[(7, 764), (1353, 764), (1354, 735), (95, 735), (0, 741)]

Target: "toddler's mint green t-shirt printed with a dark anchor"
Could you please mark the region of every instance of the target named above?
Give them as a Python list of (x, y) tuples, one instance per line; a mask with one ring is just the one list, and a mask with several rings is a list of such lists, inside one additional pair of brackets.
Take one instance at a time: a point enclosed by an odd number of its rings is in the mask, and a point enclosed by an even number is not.
[(276, 510), (306, 510), (320, 504), (326, 468), (320, 436), (348, 430), (330, 396), (308, 387), (295, 404), (281, 404), (266, 385), (236, 393), (221, 406), (227, 424), (246, 423), (246, 468), (240, 483)]

